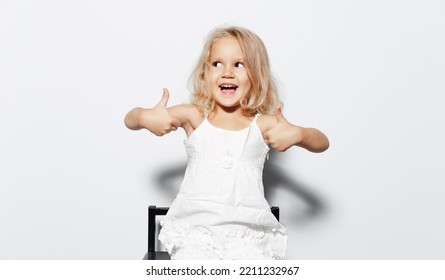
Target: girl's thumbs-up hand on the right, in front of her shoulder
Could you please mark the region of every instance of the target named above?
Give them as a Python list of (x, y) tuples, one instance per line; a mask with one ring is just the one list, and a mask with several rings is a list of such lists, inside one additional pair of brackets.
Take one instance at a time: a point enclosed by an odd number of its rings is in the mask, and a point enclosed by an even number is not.
[(303, 129), (289, 123), (283, 116), (281, 107), (275, 110), (276, 124), (263, 133), (264, 141), (279, 152), (284, 152), (303, 140)]

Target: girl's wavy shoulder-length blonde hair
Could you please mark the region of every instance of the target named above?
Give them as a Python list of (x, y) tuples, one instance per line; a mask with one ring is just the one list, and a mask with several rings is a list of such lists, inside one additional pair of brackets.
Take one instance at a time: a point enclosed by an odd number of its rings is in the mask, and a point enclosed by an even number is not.
[(272, 114), (274, 109), (281, 105), (281, 101), (270, 70), (266, 47), (255, 33), (236, 26), (217, 28), (208, 35), (198, 63), (190, 76), (191, 103), (205, 114), (211, 113), (215, 108), (215, 100), (208, 84), (210, 80), (209, 57), (215, 42), (225, 37), (231, 37), (238, 41), (245, 57), (247, 75), (252, 85), (247, 98), (240, 103), (241, 108), (251, 116), (258, 113)]

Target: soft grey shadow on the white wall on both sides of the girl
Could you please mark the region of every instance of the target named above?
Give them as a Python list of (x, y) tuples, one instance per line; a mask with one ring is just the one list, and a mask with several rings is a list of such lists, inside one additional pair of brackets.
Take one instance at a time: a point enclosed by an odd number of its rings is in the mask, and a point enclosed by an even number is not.
[[(271, 201), (276, 197), (277, 190), (282, 188), (286, 194), (292, 195), (296, 202), (304, 204), (303, 207), (297, 207), (295, 212), (288, 213), (289, 210), (286, 209), (286, 213), (283, 213), (292, 220), (292, 224), (301, 225), (321, 218), (327, 213), (326, 203), (320, 195), (312, 191), (313, 188), (295, 180), (291, 174), (283, 171), (277, 163), (285, 156), (283, 153), (270, 150), (269, 160), (266, 160), (263, 170), (264, 196), (268, 201)], [(156, 188), (165, 193), (171, 201), (178, 194), (186, 167), (187, 162), (178, 163), (163, 167), (154, 174)], [(279, 203), (277, 204), (276, 206), (280, 206)], [(285, 207), (281, 206), (281, 208)]]

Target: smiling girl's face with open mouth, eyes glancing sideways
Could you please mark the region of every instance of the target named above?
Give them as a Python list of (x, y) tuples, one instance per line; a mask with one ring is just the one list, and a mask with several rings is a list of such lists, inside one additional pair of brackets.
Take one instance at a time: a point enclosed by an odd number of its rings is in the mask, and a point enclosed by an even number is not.
[(216, 106), (240, 107), (241, 100), (249, 94), (251, 83), (238, 41), (232, 37), (218, 39), (210, 49), (209, 63), (210, 90)]

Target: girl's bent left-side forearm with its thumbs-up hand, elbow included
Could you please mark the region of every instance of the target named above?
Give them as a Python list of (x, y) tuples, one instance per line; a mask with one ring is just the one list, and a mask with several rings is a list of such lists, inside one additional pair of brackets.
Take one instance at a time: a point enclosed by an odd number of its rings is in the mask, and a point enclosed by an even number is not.
[(175, 131), (187, 123), (185, 110), (181, 105), (167, 109), (169, 92), (164, 88), (159, 103), (151, 109), (134, 108), (125, 116), (125, 125), (132, 130), (148, 129), (157, 136)]

